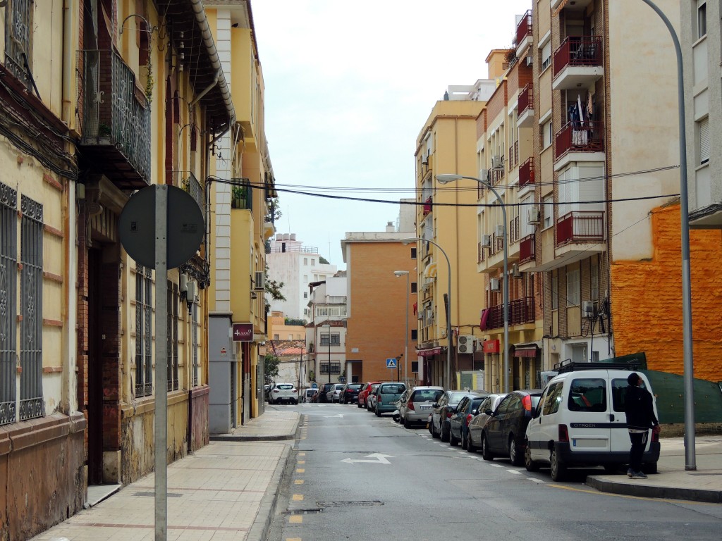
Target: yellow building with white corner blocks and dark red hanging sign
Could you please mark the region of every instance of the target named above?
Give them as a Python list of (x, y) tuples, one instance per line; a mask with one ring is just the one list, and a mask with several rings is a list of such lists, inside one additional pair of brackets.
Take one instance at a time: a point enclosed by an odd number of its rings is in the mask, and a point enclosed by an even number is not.
[(236, 113), (232, 130), (214, 141), (209, 182), (209, 425), (226, 433), (264, 407), (266, 240), (274, 234), (276, 194), (250, 2), (207, 5)]

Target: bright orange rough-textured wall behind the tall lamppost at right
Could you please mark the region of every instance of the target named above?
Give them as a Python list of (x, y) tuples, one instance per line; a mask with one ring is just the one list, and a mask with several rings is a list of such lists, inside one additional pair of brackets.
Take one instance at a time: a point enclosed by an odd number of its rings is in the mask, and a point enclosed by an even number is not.
[[(617, 355), (644, 351), (648, 368), (683, 374), (682, 253), (679, 206), (651, 218), (651, 261), (612, 264), (612, 317)], [(690, 232), (695, 377), (722, 380), (722, 232)]]

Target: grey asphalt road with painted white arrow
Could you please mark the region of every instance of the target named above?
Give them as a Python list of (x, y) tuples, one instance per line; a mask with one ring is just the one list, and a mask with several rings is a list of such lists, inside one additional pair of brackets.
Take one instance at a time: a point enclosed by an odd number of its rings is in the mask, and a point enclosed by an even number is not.
[(599, 493), (594, 470), (554, 483), (354, 405), (278, 407), (304, 416), (271, 541), (721, 539), (720, 505)]

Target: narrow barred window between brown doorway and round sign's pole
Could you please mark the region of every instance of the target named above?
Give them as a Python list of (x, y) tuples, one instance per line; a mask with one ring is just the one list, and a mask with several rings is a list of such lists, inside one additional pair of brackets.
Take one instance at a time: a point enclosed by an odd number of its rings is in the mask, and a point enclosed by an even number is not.
[(136, 267), (136, 397), (153, 394), (151, 273), (142, 265)]

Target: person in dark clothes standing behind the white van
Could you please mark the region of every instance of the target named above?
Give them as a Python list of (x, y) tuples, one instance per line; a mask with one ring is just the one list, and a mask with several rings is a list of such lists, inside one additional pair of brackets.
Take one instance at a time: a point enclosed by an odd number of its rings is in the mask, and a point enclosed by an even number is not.
[(630, 467), (627, 477), (632, 479), (646, 479), (642, 471), (642, 457), (647, 447), (649, 429), (655, 434), (660, 431), (659, 423), (654, 415), (654, 406), (651, 393), (640, 387), (643, 379), (637, 372), (627, 377), (627, 394), (625, 395), (625, 414), (627, 415), (627, 430), (630, 432), (632, 447), (630, 449)]

